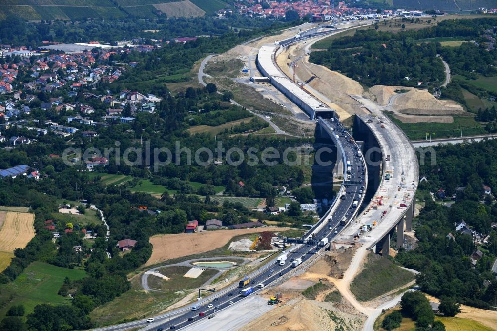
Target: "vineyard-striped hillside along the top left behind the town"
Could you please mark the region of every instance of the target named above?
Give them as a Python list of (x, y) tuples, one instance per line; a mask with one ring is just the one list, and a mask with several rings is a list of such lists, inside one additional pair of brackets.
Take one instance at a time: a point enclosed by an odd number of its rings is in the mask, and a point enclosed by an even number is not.
[(197, 17), (222, 9), (221, 0), (4, 0), (0, 20), (10, 16), (26, 20), (79, 20), (128, 16)]

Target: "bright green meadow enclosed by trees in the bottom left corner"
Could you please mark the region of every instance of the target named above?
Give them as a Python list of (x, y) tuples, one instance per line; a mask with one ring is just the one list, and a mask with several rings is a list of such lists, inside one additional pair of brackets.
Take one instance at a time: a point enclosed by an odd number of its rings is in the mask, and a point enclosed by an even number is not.
[(23, 304), (26, 315), (38, 304), (69, 304), (70, 299), (57, 294), (65, 277), (84, 278), (83, 269), (66, 269), (35, 261), (11, 283), (0, 285), (0, 316), (13, 305)]

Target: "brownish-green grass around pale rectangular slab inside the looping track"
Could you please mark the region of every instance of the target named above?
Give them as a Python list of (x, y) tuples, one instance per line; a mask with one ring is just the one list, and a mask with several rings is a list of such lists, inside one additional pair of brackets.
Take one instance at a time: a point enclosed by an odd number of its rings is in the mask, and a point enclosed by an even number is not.
[(206, 269), (197, 278), (184, 277), (185, 273), (190, 270), (191, 267), (188, 266), (171, 266), (165, 267), (157, 270), (157, 272), (162, 273), (169, 280), (164, 280), (162, 278), (156, 277), (154, 275), (149, 275), (149, 286), (153, 289), (163, 290), (163, 291), (182, 291), (188, 289), (198, 289), (202, 286), (209, 278), (218, 273), (219, 270)]

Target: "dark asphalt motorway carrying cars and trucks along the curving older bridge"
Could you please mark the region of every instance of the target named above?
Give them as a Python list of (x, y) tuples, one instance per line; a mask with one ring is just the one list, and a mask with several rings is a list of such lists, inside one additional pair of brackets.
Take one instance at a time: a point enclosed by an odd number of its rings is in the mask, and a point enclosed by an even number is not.
[[(363, 160), (359, 156), (360, 154), (358, 153), (358, 147), (355, 142), (350, 141), (350, 134), (343, 128), (340, 123), (331, 120), (326, 120), (326, 122), (334, 129), (335, 134), (339, 136), (347, 161), (350, 161), (351, 163), (351, 168), (353, 169), (351, 171), (351, 181), (358, 182), (357, 184), (350, 185), (348, 185), (346, 182), (346, 194), (344, 199), (336, 197), (337, 199), (339, 199), (339, 201), (337, 201), (336, 208), (330, 208), (325, 216), (322, 217), (321, 220), (303, 237), (305, 239), (311, 234), (315, 234), (315, 238), (318, 240), (328, 238), (328, 240), (331, 241), (344, 228), (343, 225), (340, 225), (340, 220), (345, 217), (347, 219), (345, 224), (347, 224), (348, 220), (350, 220), (350, 218), (355, 215), (354, 212), (356, 211), (356, 208), (352, 207), (352, 203), (355, 200), (360, 200), (358, 195), (360, 194), (359, 192), (364, 189), (365, 175)], [(324, 247), (315, 245), (314, 243), (303, 245), (294, 244), (294, 246), (292, 246), (292, 248), (288, 250), (288, 259), (285, 265), (280, 266), (276, 264), (276, 258), (274, 258), (261, 270), (257, 270), (254, 275), (251, 275), (250, 283), (244, 288), (254, 287), (253, 291), (254, 293), (256, 293), (257, 291), (261, 290), (259, 288), (256, 288), (258, 284), (264, 283), (265, 285), (268, 285), (292, 271), (293, 268), (291, 267), (290, 261), (297, 258), (302, 258), (302, 261), (304, 263), (309, 259), (310, 256), (312, 256), (312, 254), (318, 253), (324, 249)], [(273, 271), (270, 272), (271, 270)], [(229, 307), (231, 305), (230, 302), (234, 304), (244, 299), (244, 297), (242, 297), (239, 293), (241, 289), (242, 288), (237, 287), (237, 284), (234, 284), (226, 289), (223, 289), (222, 292), (218, 294), (211, 295), (208, 300), (200, 303), (201, 307), (198, 310), (185, 310), (174, 317), (162, 316), (160, 319), (155, 319), (154, 322), (152, 322), (143, 330), (157, 330), (158, 328), (166, 330), (170, 329), (171, 327), (173, 327), (173, 329), (180, 329), (189, 326), (199, 320), (208, 319), (211, 316), (215, 318), (216, 312)], [(213, 307), (208, 308), (207, 306), (211, 304), (213, 305)], [(218, 309), (214, 309), (215, 307), (218, 307)], [(199, 313), (204, 313), (204, 316), (200, 317)], [(188, 321), (189, 319), (190, 321)]]

